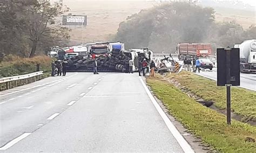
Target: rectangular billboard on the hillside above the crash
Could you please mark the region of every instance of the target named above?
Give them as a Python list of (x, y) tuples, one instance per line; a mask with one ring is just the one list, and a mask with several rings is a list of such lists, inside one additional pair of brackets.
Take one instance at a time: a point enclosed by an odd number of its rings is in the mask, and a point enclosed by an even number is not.
[(87, 16), (63, 16), (62, 25), (87, 25)]

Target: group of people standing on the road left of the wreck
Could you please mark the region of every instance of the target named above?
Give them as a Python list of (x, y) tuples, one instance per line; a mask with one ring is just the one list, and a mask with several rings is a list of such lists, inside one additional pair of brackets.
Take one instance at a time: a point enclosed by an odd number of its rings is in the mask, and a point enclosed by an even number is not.
[[(64, 60), (65, 61), (65, 60)], [(51, 77), (57, 76), (66, 76), (66, 64), (65, 62), (61, 62), (60, 60), (52, 60), (51, 62)]]

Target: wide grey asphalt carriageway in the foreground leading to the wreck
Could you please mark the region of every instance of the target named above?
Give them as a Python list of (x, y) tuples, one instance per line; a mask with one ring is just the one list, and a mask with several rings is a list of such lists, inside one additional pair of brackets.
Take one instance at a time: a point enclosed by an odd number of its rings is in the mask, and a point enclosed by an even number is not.
[(0, 152), (193, 152), (137, 73), (68, 73), (0, 92)]

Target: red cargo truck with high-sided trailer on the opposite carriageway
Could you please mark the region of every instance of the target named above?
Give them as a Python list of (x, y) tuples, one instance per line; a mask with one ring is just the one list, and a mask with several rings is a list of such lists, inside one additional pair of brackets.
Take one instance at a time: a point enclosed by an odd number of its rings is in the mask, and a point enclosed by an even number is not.
[(207, 58), (211, 55), (211, 44), (178, 43), (176, 47), (179, 60), (185, 58)]

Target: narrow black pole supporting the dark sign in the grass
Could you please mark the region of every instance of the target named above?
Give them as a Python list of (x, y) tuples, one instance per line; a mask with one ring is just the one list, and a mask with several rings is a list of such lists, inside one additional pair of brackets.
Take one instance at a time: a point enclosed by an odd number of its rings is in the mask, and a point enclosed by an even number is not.
[(227, 69), (227, 75), (226, 75), (226, 100), (227, 100), (227, 124), (231, 124), (231, 74), (230, 74), (230, 53), (231, 48), (226, 49), (226, 69)]

